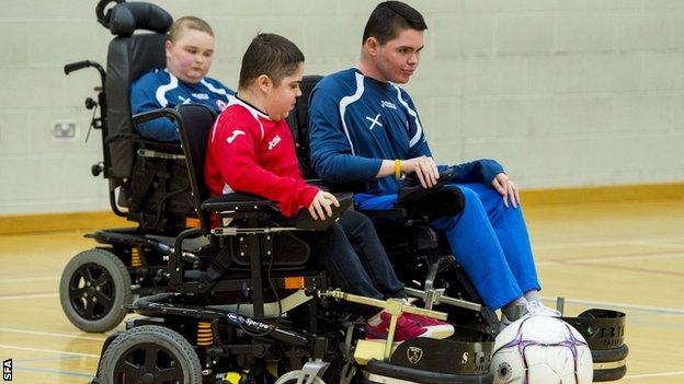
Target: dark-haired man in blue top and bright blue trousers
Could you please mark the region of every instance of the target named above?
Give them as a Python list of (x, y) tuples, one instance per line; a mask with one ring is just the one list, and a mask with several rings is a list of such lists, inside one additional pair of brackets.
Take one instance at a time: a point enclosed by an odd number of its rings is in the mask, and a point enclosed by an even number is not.
[[(438, 170), (415, 105), (396, 84), (407, 83), (423, 48), (422, 15), (399, 1), (378, 4), (363, 36), (355, 68), (323, 78), (311, 93), (311, 161), (331, 182), (369, 182), (356, 195), (362, 209), (388, 209), (397, 201), (402, 174), (415, 173), (425, 187)], [(460, 189), (463, 211), (431, 223), (444, 230), (453, 254), (485, 304), (502, 309), (510, 323), (539, 303), (540, 289), (517, 187), (493, 160), (456, 166), (445, 188)]]

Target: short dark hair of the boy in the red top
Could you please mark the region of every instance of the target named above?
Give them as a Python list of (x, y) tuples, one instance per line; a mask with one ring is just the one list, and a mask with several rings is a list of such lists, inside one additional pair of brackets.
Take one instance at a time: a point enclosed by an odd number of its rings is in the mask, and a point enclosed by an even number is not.
[(295, 73), (301, 62), (304, 54), (295, 43), (273, 33), (260, 33), (242, 56), (239, 86), (248, 86), (262, 74), (277, 86), (283, 78)]

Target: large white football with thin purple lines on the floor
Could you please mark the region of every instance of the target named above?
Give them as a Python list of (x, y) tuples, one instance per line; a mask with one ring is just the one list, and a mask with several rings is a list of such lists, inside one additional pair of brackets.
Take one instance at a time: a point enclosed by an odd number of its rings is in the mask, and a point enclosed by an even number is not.
[(503, 329), (491, 361), (494, 384), (585, 384), (593, 380), (591, 350), (559, 317), (525, 316)]

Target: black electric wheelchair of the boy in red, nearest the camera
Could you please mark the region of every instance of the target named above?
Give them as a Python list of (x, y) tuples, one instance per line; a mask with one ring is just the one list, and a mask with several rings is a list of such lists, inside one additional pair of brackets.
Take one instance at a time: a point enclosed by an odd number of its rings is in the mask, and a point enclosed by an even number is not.
[[(294, 235), (314, 225), (307, 210), (294, 220), (260, 197), (208, 197), (204, 159), (214, 114), (180, 105), (136, 116), (176, 120), (186, 155), (201, 226), (181, 232), (167, 275), (169, 292), (136, 300), (141, 315), (126, 322), (103, 346), (96, 383), (490, 383), (490, 335), (457, 328), (449, 339), (415, 338), (392, 348), (363, 338), (363, 318), (344, 303), (412, 312), (446, 319), (446, 314), (399, 300), (379, 301), (329, 287), (312, 269), (309, 248)], [(339, 195), (351, 202), (351, 195)], [(212, 228), (212, 218), (218, 223)], [(329, 220), (329, 224), (333, 221)], [(183, 242), (209, 240), (207, 270), (182, 263)], [(458, 356), (457, 363), (444, 362)]]

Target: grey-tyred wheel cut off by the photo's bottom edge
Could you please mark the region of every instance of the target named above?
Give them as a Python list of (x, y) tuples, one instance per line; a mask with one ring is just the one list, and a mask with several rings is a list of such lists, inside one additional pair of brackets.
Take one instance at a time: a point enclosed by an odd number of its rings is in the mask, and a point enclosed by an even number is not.
[(200, 358), (176, 331), (144, 325), (121, 334), (100, 361), (102, 384), (202, 384)]

